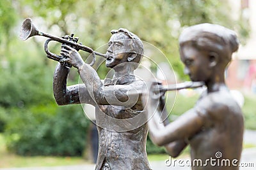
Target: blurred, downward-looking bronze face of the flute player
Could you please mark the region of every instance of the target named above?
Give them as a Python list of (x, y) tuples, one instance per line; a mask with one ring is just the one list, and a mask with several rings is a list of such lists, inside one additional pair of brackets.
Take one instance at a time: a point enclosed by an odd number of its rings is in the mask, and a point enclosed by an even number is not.
[(180, 47), (180, 59), (184, 63), (184, 73), (192, 81), (207, 81), (211, 77), (212, 67), (209, 51), (198, 50), (192, 45)]

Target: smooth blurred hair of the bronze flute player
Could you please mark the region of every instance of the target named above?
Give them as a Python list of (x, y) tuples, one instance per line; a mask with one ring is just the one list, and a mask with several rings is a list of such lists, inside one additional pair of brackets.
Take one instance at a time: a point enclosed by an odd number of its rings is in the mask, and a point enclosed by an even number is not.
[(179, 38), (180, 46), (191, 43), (197, 48), (212, 50), (230, 61), (232, 53), (239, 47), (236, 32), (217, 24), (197, 24), (182, 31)]

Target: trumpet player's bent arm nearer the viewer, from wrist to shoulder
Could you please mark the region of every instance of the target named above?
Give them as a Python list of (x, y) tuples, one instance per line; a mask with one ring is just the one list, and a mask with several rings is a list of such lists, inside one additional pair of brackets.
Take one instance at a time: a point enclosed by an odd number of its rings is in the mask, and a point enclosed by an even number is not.
[(142, 94), (142, 91), (138, 90), (140, 85), (133, 86), (134, 92), (131, 90), (132, 85), (110, 85), (104, 87), (97, 72), (89, 64), (84, 63), (83, 66), (79, 67), (78, 72), (88, 93), (93, 96), (97, 104), (134, 106), (134, 104), (138, 103), (138, 97)]

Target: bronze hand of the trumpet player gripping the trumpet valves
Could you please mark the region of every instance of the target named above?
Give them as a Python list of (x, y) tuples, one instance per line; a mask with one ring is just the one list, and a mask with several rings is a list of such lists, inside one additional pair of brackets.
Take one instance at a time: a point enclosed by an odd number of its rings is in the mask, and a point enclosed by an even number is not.
[(67, 62), (72, 66), (76, 67), (77, 69), (84, 64), (84, 60), (82, 59), (81, 55), (68, 45), (61, 45), (61, 55), (65, 56), (67, 59), (61, 60), (61, 62)]

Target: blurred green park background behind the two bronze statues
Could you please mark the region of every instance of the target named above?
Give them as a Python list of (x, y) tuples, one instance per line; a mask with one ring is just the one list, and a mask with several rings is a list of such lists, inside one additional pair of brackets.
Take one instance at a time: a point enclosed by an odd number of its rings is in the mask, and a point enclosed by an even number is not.
[[(52, 75), (57, 63), (45, 55), (46, 39), (19, 38), (20, 26), (27, 17), (40, 31), (60, 37), (75, 33), (83, 45), (93, 49), (108, 43), (112, 29), (124, 27), (163, 52), (164, 59), (154, 53), (150, 57), (164, 67), (166, 74), (173, 69), (178, 82), (189, 80), (179, 59), (182, 29), (204, 22), (233, 29), (241, 46), (227, 69), (227, 85), (243, 109), (246, 129), (256, 130), (256, 1), (1, 0), (0, 168), (95, 161), (92, 121), (80, 104), (57, 106), (54, 101)], [(51, 43), (51, 51), (60, 53), (60, 43)], [(88, 53), (81, 54), (84, 59), (88, 57)], [(101, 78), (108, 71), (104, 63), (97, 69)], [(72, 68), (68, 85), (78, 80)], [(199, 94), (198, 90), (178, 92), (175, 104), (168, 108), (170, 119), (193, 107)], [(244, 143), (244, 148), (254, 147), (255, 143)], [(182, 154), (188, 155), (188, 150)], [(166, 159), (164, 149), (154, 146), (149, 138), (147, 152), (150, 160)]]

